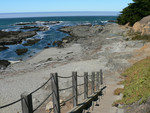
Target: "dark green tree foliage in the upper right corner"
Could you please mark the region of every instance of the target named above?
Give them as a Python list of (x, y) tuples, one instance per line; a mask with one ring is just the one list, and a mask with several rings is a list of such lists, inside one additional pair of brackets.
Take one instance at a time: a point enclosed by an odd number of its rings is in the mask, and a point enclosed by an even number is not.
[(148, 15), (150, 15), (150, 0), (133, 0), (133, 3), (123, 9), (117, 21), (118, 24), (125, 25), (130, 23), (132, 26), (135, 22)]

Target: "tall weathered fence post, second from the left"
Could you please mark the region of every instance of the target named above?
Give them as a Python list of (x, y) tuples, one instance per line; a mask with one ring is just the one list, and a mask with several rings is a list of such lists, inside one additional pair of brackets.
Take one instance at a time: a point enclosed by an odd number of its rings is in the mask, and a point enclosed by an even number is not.
[(54, 113), (60, 113), (60, 101), (59, 101), (59, 86), (58, 86), (58, 74), (51, 73), (51, 86), (52, 86), (52, 98)]

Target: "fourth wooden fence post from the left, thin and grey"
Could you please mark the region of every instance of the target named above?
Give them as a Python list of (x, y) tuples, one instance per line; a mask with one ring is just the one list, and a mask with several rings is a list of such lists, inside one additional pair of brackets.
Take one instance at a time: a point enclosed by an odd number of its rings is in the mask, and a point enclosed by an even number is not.
[(88, 98), (88, 73), (84, 73), (84, 99)]

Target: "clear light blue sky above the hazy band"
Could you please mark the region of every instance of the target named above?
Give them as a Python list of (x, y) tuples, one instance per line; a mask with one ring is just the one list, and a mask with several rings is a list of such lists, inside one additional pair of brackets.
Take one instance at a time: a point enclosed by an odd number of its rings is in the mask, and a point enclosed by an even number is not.
[(121, 11), (132, 0), (0, 0), (0, 13)]

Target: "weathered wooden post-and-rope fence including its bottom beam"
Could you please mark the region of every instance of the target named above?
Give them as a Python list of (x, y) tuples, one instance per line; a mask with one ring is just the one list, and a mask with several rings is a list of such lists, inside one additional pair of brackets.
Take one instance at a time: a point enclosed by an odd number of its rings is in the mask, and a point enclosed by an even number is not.
[[(77, 78), (82, 77), (84, 79), (83, 84), (78, 85)], [(72, 78), (72, 86), (67, 87), (64, 89), (59, 88), (59, 82), (58, 78), (67, 79)], [(89, 81), (90, 78), (90, 81)], [(44, 87), (49, 81), (51, 81), (51, 88), (52, 92), (47, 96), (47, 98), (44, 99), (44, 101), (37, 106), (35, 109), (33, 109), (33, 103), (32, 103), (32, 94), (37, 92), (39, 89)], [(89, 94), (89, 82), (91, 82), (91, 95)], [(84, 86), (84, 101), (82, 103), (78, 103), (78, 96), (81, 94), (78, 94), (78, 86)], [(103, 85), (103, 73), (102, 70), (99, 72), (92, 72), (91, 75), (89, 75), (87, 72), (84, 73), (84, 76), (77, 75), (77, 72), (72, 72), (72, 76), (63, 77), (58, 76), (57, 73), (51, 73), (50, 78), (47, 82), (45, 82), (41, 87), (36, 89), (35, 91), (28, 93), (21, 94), (21, 99), (18, 99), (15, 102), (12, 102), (8, 105), (1, 106), (0, 109), (3, 109), (5, 107), (11, 106), (19, 101), (21, 101), (22, 105), (22, 113), (34, 113), (37, 109), (39, 109), (43, 103), (49, 98), (52, 97), (53, 101), (53, 112), (54, 113), (60, 113), (61, 107), (60, 107), (60, 91), (72, 89), (72, 97), (65, 100), (64, 102), (68, 102), (70, 100), (73, 101), (73, 109), (68, 111), (68, 113), (82, 113), (83, 110), (87, 110), (91, 107), (93, 101), (97, 101), (99, 96), (102, 96), (102, 91), (106, 88), (106, 86)]]

